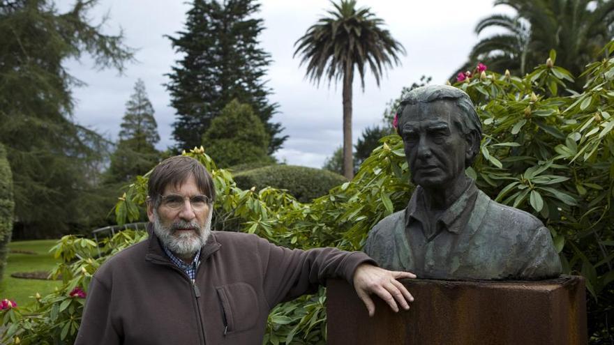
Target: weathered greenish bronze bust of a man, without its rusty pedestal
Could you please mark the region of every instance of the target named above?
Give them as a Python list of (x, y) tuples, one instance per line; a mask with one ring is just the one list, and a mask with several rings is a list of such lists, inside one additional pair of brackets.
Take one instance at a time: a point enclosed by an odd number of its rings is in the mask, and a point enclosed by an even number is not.
[(481, 124), (467, 93), (424, 86), (397, 112), (412, 182), (405, 210), (370, 231), (365, 252), (383, 268), (433, 279), (543, 279), (561, 263), (536, 217), (491, 200), (465, 175)]

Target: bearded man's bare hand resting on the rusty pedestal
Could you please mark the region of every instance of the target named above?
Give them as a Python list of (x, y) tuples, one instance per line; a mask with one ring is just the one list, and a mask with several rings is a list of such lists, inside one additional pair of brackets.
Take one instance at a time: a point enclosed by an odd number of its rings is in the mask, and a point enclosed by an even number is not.
[(370, 263), (361, 263), (354, 272), (354, 289), (366, 305), (369, 316), (375, 314), (375, 304), (370, 297), (371, 293), (380, 296), (394, 312), (398, 312), (397, 303), (407, 310), (410, 309), (407, 302), (413, 302), (414, 298), (410, 291), (407, 291), (405, 286), (396, 279), (415, 277), (414, 273), (384, 270)]

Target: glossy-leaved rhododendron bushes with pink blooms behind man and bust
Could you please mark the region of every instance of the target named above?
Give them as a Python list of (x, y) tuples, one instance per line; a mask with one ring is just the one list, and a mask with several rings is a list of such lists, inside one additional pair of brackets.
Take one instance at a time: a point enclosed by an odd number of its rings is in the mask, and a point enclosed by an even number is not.
[[(606, 56), (614, 49), (610, 43)], [(481, 155), (467, 174), (493, 199), (539, 217), (551, 230), (564, 273), (586, 278), (589, 334), (592, 342), (611, 337), (614, 320), (614, 59), (587, 66), (583, 93), (566, 90), (574, 77), (548, 62), (529, 75), (491, 72), (478, 64), (472, 75), (458, 77), (477, 105), (484, 123)], [(241, 190), (230, 171), (217, 169), (206, 148), (186, 155), (211, 171), (216, 185), (218, 226), (257, 233), (278, 245), (311, 248), (336, 246), (360, 250), (368, 230), (401, 210), (412, 192), (400, 137), (391, 135), (360, 167), (350, 182), (309, 204), (283, 190)], [(121, 224), (137, 220), (148, 175), (138, 176), (115, 208)], [(3, 341), (21, 344), (72, 344), (91, 275), (110, 255), (147, 237), (126, 230), (97, 244), (66, 236), (54, 251), (63, 260), (53, 275), (63, 287), (37, 296), (31, 309), (0, 309)], [(103, 256), (98, 256), (98, 246)], [(144, 293), (144, 291), (135, 291)], [(10, 296), (0, 296), (9, 298)], [(304, 296), (275, 307), (266, 343), (324, 344), (325, 293)], [(6, 302), (8, 305), (10, 302)]]

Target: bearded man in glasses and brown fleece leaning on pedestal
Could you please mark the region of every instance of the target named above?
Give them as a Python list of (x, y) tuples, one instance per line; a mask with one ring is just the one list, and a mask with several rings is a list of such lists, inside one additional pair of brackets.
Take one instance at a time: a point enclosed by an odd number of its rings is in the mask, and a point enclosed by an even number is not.
[(91, 280), (75, 344), (261, 344), (269, 310), (329, 277), (353, 282), (369, 314), (376, 293), (408, 309), (396, 278), (361, 252), (301, 251), (246, 233), (211, 231), (214, 184), (193, 158), (149, 177), (149, 240), (119, 252)]

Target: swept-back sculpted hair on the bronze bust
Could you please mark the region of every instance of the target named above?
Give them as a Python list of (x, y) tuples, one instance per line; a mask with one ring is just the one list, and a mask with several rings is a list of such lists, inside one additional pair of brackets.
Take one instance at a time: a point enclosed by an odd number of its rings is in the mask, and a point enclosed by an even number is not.
[(436, 100), (451, 100), (461, 110), (453, 121), (463, 135), (472, 137), (473, 155), (465, 162), (465, 167), (470, 167), (479, 153), (482, 125), (471, 98), (461, 89), (447, 85), (427, 85), (406, 93), (396, 112), (398, 134), (403, 136), (403, 123), (407, 121), (406, 118), (403, 118), (403, 110), (407, 105), (426, 105)]

